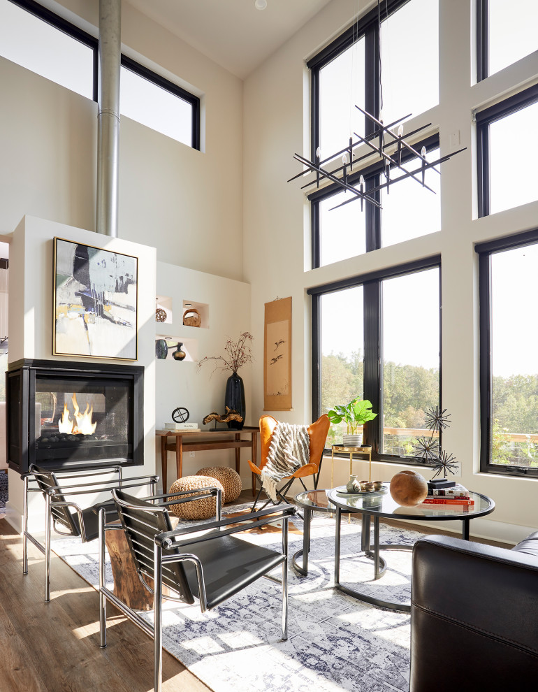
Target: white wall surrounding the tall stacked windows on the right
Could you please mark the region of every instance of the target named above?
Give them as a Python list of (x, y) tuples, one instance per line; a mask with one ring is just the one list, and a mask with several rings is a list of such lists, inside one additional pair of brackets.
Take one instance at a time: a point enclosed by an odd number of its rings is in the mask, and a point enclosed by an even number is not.
[[(463, 154), (443, 166), (442, 231), (392, 247), (353, 257), (314, 271), (310, 266), (310, 217), (300, 183), (286, 184), (298, 172), (292, 155), (309, 154), (309, 94), (305, 59), (351, 23), (357, 4), (334, 0), (293, 36), (255, 73), (244, 87), (244, 229), (245, 279), (252, 283), (252, 329), (256, 342), (254, 377), (263, 376), (263, 303), (293, 298), (293, 411), (279, 414), (295, 423), (310, 421), (310, 300), (308, 287), (360, 275), (412, 259), (442, 254), (443, 406), (452, 426), (444, 447), (462, 464), (461, 482), (495, 499), (487, 519), (472, 522), (477, 535), (518, 540), (538, 526), (535, 502), (538, 480), (479, 473), (479, 362), (477, 259), (474, 243), (536, 227), (538, 203), (477, 219), (474, 182), (474, 125), (471, 109), (514, 85), (538, 79), (538, 53), (472, 84), (471, 46), (474, 37), (471, 3), (439, 3), (439, 106), (412, 124), (439, 127), (442, 153), (453, 150), (449, 135), (459, 131)], [(349, 25), (349, 24), (348, 24)], [(409, 45), (405, 43), (404, 45)], [(343, 145), (342, 145), (343, 146)], [(259, 162), (263, 161), (263, 165)], [(263, 257), (263, 261), (261, 261)], [(254, 390), (253, 406), (261, 408), (263, 391)], [(330, 482), (326, 461), (321, 484)], [(347, 479), (347, 465), (337, 465), (336, 482)], [(398, 469), (374, 464), (373, 475), (389, 480)], [(446, 528), (446, 527), (444, 527)], [(453, 527), (458, 530), (458, 527)]]

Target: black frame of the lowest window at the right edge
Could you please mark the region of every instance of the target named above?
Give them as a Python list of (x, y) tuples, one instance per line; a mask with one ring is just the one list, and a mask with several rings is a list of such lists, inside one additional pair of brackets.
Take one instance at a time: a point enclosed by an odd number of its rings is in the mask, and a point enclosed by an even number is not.
[(538, 243), (538, 229), (477, 243), (479, 256), (480, 325), (480, 470), (509, 476), (538, 477), (538, 468), (490, 463), (493, 428), (493, 373), (491, 370), (491, 256), (504, 250)]

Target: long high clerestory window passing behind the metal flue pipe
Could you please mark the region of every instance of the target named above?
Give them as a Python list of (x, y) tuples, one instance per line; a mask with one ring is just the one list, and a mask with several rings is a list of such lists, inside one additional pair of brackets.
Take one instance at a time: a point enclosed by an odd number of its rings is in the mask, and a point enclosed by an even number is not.
[[(34, 0), (0, 0), (0, 55), (97, 101), (99, 42)], [(200, 149), (200, 99), (122, 55), (120, 111)]]

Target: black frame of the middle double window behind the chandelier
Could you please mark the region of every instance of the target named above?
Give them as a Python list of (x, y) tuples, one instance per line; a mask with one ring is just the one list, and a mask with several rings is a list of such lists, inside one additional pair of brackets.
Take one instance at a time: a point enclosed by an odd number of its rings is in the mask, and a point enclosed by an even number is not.
[[(439, 148), (439, 134), (434, 134), (426, 139), (421, 140), (419, 143), (414, 145), (417, 150), (421, 150), (421, 147), (426, 147), (426, 152)], [(413, 154), (405, 152), (402, 154), (402, 162), (409, 161), (413, 159)], [(350, 185), (358, 185), (361, 175), (364, 176), (365, 181), (365, 192), (368, 189), (372, 189), (379, 185), (381, 175), (383, 175), (383, 161), (377, 161), (371, 166), (365, 166), (365, 168), (357, 168), (354, 173), (347, 176), (347, 181)], [(391, 166), (393, 168), (393, 166)], [(394, 181), (395, 185), (398, 182)], [(311, 233), (310, 238), (312, 240), (312, 268), (317, 269), (321, 266), (321, 214), (319, 212), (319, 204), (321, 201), (335, 196), (339, 192), (342, 192), (342, 187), (337, 183), (332, 183), (321, 189), (315, 190), (307, 196), (310, 201), (310, 222), (311, 222)], [(431, 193), (432, 194), (432, 193)], [(381, 196), (378, 192), (373, 195), (376, 201), (381, 201)], [(352, 202), (355, 205), (360, 204), (360, 201)], [(382, 247), (382, 219), (381, 210), (374, 206), (373, 204), (365, 203), (365, 208), (363, 210), (365, 213), (366, 222), (366, 252), (373, 252), (374, 250), (379, 250)]]

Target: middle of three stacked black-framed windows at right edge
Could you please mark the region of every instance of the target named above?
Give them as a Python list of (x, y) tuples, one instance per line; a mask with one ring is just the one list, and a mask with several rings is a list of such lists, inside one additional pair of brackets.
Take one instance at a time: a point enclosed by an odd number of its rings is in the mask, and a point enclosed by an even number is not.
[[(479, 216), (538, 199), (538, 171), (530, 163), (538, 154), (532, 134), (538, 122), (538, 85), (481, 110), (476, 118)], [(518, 139), (525, 141), (524, 152)]]

